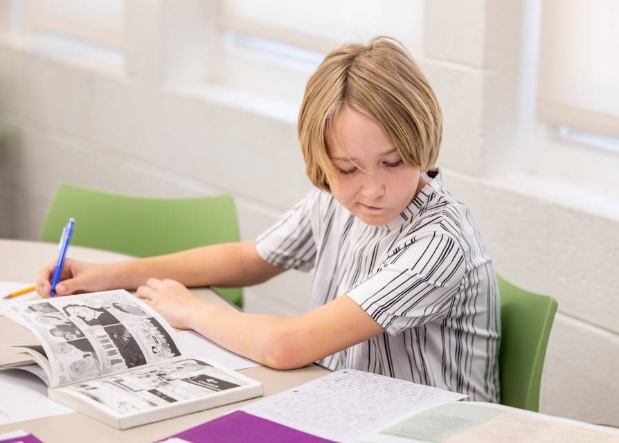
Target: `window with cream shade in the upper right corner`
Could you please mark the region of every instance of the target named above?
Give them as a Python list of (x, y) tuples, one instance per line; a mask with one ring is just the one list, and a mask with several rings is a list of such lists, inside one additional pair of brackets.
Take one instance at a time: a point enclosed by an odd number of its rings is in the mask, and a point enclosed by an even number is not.
[(619, 138), (619, 1), (544, 0), (539, 120)]

